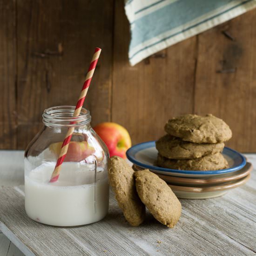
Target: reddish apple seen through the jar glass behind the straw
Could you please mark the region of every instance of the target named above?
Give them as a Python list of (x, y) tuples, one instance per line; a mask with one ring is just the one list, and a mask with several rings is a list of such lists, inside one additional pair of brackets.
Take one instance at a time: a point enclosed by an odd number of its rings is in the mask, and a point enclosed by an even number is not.
[[(56, 157), (58, 157), (61, 152), (61, 145), (62, 142), (56, 142), (49, 146), (49, 149), (56, 155)], [(70, 141), (64, 161), (80, 162), (86, 159), (89, 155), (92, 155), (94, 151), (94, 148), (90, 146), (87, 141)]]

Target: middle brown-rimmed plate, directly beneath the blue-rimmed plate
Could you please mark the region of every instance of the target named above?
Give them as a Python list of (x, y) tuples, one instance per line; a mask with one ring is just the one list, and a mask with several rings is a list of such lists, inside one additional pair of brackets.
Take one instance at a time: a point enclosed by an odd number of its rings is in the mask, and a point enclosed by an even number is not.
[[(142, 170), (143, 168), (133, 165), (134, 170)], [(206, 178), (186, 178), (186, 177), (175, 177), (170, 175), (163, 175), (157, 173), (157, 175), (163, 179), (165, 182), (173, 185), (186, 186), (186, 185), (203, 185), (203, 184), (219, 184), (223, 182), (230, 182), (239, 180), (247, 176), (253, 167), (252, 164), (247, 162), (246, 165), (238, 171), (232, 173), (224, 173), (220, 175), (215, 175), (214, 177)], [(151, 170), (154, 172), (154, 170)]]

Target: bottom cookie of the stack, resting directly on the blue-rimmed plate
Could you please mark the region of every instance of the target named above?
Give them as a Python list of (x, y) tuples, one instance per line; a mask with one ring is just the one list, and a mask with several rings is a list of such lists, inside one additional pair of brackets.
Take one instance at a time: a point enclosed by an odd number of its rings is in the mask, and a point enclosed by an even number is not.
[(168, 159), (158, 154), (156, 164), (163, 168), (193, 171), (221, 170), (228, 167), (228, 162), (221, 153), (189, 160)]

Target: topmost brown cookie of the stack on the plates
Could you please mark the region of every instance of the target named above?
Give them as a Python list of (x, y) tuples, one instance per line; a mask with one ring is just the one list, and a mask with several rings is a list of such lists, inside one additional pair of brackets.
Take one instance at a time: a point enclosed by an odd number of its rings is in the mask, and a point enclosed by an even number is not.
[(211, 114), (174, 117), (166, 123), (165, 131), (169, 135), (182, 138), (183, 141), (195, 143), (223, 142), (232, 136), (229, 126)]

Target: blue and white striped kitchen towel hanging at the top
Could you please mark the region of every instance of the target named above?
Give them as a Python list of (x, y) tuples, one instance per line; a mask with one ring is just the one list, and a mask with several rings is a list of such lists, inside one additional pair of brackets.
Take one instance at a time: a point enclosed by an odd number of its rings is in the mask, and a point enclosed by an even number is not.
[(256, 7), (256, 0), (125, 0), (132, 66)]

